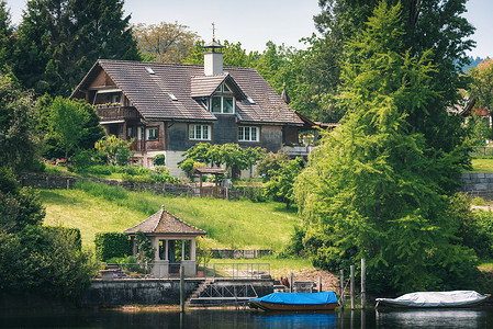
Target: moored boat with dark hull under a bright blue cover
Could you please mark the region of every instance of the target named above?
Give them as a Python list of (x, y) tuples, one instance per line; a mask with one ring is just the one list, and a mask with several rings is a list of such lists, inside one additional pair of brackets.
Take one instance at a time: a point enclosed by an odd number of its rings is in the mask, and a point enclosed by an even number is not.
[(334, 292), (322, 293), (272, 293), (250, 299), (250, 308), (285, 311), (321, 311), (334, 310), (338, 306)]

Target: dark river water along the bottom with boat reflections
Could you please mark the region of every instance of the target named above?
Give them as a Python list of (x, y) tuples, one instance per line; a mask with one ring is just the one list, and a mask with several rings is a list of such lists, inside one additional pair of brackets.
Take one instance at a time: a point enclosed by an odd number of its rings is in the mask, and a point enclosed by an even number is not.
[(430, 310), (337, 310), (318, 314), (250, 309), (179, 311), (72, 310), (2, 313), (0, 328), (493, 328), (493, 308)]

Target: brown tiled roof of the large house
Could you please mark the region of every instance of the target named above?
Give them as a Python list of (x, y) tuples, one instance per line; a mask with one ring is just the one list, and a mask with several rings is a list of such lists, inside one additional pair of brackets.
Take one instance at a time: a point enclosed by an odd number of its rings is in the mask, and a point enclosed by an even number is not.
[[(91, 71), (99, 68), (122, 89), (144, 118), (213, 121), (215, 116), (193, 97), (205, 97), (214, 86), (231, 79), (228, 81), (234, 87), (233, 92), (238, 95), (236, 113), (239, 122), (303, 124), (269, 83), (251, 68), (224, 67), (224, 75), (213, 77), (204, 77), (203, 66), (197, 65), (99, 59)], [(149, 73), (146, 68), (150, 68), (154, 73)], [(87, 88), (93, 76), (91, 71), (72, 97), (80, 89)], [(178, 100), (171, 100), (169, 93)]]

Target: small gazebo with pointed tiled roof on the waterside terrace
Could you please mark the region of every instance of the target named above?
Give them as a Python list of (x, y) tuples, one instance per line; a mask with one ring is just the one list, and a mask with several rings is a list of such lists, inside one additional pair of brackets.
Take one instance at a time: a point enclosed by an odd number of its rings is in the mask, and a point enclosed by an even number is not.
[[(179, 273), (182, 265), (186, 276), (194, 276), (197, 269), (195, 238), (206, 232), (197, 228), (173, 214), (161, 209), (141, 224), (124, 230), (134, 242), (134, 254), (137, 252), (135, 235), (143, 231), (156, 248), (153, 274), (155, 277), (167, 277)], [(181, 242), (181, 243), (180, 243)], [(180, 246), (181, 245), (181, 246)], [(181, 247), (181, 248), (180, 248)]]

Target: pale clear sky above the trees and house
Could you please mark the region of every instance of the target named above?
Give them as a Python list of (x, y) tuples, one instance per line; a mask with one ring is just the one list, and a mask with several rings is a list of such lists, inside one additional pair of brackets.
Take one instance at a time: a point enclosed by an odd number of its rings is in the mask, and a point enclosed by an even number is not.
[[(7, 0), (12, 23), (19, 24), (26, 0)], [(468, 55), (493, 57), (491, 16), (493, 0), (469, 0), (464, 16), (477, 27), (472, 39), (477, 47)], [(304, 48), (302, 37), (315, 33), (313, 15), (320, 12), (317, 0), (125, 0), (124, 10), (132, 23), (178, 22), (212, 39), (242, 43), (246, 50), (264, 50), (266, 43)]]

